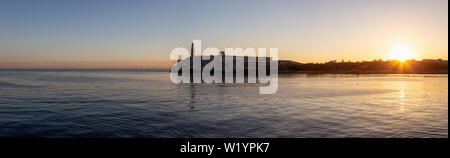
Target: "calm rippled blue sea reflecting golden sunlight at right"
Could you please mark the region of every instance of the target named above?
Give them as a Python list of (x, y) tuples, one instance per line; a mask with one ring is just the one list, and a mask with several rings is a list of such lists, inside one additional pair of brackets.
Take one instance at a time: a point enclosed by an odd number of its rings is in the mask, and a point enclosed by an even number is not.
[(173, 84), (154, 70), (0, 70), (0, 137), (444, 137), (448, 75)]

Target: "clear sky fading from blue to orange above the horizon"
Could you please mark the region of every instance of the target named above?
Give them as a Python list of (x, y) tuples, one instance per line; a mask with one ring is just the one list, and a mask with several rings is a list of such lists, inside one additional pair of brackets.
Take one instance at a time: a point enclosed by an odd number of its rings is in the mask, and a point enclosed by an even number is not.
[(194, 39), (302, 63), (388, 59), (398, 45), (448, 59), (448, 1), (0, 1), (0, 68), (167, 68)]

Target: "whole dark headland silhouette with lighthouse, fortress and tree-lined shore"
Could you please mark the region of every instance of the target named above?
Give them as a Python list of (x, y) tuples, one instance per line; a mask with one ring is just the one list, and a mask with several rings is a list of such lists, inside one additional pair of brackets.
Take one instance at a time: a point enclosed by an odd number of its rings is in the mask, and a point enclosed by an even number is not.
[[(214, 56), (210, 56), (209, 60), (205, 60), (203, 56), (194, 55), (194, 43), (191, 45), (191, 55), (188, 58), (178, 60), (177, 64), (189, 63), (190, 72), (193, 73), (193, 61), (200, 61), (199, 66), (203, 69), (211, 61), (214, 60)], [(255, 57), (255, 66), (249, 67), (248, 56), (227, 56), (224, 51), (220, 52), (222, 58), (222, 74), (225, 74), (225, 67), (233, 69), (233, 74), (236, 75), (237, 62), (243, 62), (244, 75), (247, 76), (247, 72), (250, 69), (256, 70), (258, 73), (259, 62), (266, 64), (266, 73), (270, 74), (270, 63), (273, 61), (271, 57)], [(233, 62), (225, 62), (225, 58), (232, 58)], [(239, 59), (239, 60), (238, 60)], [(265, 62), (264, 62), (265, 61)], [(178, 70), (181, 74), (182, 70)], [(211, 74), (214, 74), (214, 69), (211, 70)], [(290, 74), (290, 73), (308, 73), (308, 74), (448, 74), (448, 60), (442, 59), (423, 59), (420, 61), (406, 60), (386, 60), (381, 59), (373, 61), (345, 61), (340, 62), (332, 60), (325, 63), (299, 63), (291, 60), (278, 60), (278, 73)], [(191, 75), (192, 76), (192, 75)], [(224, 76), (224, 75), (222, 75)], [(191, 77), (192, 80), (192, 77)]]

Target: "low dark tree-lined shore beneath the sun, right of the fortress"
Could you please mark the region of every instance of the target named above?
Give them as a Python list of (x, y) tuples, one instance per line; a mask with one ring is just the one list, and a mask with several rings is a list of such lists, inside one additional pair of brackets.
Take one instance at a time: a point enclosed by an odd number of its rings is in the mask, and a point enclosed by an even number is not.
[(331, 74), (448, 74), (448, 60), (387, 60), (336, 61), (326, 63), (298, 63), (280, 60), (279, 73)]

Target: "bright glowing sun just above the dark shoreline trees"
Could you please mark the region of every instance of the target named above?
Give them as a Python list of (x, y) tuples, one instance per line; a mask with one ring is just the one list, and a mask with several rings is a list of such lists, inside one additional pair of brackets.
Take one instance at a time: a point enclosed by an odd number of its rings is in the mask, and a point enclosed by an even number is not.
[(392, 47), (388, 56), (389, 60), (399, 60), (399, 61), (405, 61), (408, 59), (415, 59), (415, 58), (416, 56), (414, 49), (407, 44), (400, 44)]

